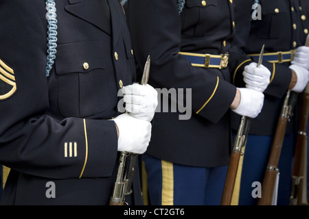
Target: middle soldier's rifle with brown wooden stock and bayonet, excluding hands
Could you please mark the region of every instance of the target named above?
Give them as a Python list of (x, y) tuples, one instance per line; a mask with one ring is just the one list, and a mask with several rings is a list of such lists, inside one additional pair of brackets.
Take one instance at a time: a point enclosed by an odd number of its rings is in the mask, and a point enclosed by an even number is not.
[[(260, 52), (258, 60), (258, 67), (262, 64), (264, 53), (264, 45)], [(240, 125), (238, 127), (237, 136), (233, 143), (233, 151), (231, 151), (231, 158), (229, 159), (229, 167), (227, 169), (227, 177), (225, 179), (225, 188), (223, 190), (221, 205), (231, 205), (231, 199), (233, 196), (234, 185), (236, 181), (236, 175), (238, 171), (238, 164), (240, 162), (240, 156), (244, 155), (244, 146), (247, 144), (247, 137), (249, 133), (251, 118), (242, 116)]]

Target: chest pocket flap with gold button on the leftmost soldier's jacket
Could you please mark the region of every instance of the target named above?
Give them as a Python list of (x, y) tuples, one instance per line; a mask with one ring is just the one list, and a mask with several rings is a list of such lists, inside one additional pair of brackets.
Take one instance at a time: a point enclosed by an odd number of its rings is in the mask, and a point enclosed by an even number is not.
[(104, 68), (102, 41), (73, 42), (60, 44), (56, 53), (56, 74), (87, 73), (95, 68)]

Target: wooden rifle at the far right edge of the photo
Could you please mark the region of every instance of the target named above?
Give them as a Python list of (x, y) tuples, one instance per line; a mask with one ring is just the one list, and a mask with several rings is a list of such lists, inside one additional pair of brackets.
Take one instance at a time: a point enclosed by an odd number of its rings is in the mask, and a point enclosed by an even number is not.
[(299, 131), (295, 146), (290, 205), (308, 205), (307, 201), (307, 120), (309, 112), (309, 83), (304, 90), (299, 115)]

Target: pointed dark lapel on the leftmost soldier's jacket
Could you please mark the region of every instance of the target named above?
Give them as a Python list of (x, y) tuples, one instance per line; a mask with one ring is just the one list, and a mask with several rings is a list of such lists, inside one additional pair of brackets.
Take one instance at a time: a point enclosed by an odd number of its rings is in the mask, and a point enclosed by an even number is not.
[(106, 34), (111, 35), (111, 16), (105, 1), (103, 3), (93, 1), (93, 3), (87, 4), (87, 1), (83, 0), (69, 0), (69, 3), (69, 5), (65, 6), (67, 12), (92, 23)]

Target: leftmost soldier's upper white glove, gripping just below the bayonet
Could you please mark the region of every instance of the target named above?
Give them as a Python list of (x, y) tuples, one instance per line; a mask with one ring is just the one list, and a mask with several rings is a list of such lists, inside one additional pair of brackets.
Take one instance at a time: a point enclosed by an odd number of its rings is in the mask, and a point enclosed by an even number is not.
[(142, 86), (138, 83), (122, 88), (126, 111), (134, 118), (150, 122), (155, 115), (158, 105), (158, 92), (149, 84)]

